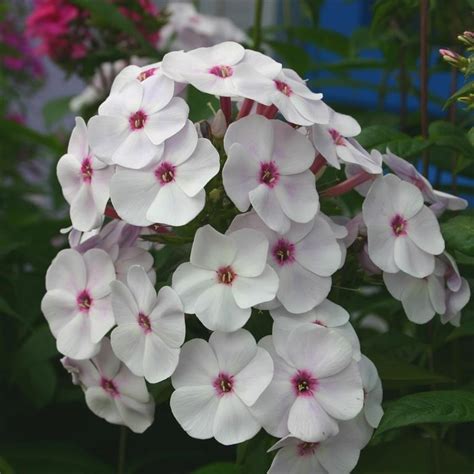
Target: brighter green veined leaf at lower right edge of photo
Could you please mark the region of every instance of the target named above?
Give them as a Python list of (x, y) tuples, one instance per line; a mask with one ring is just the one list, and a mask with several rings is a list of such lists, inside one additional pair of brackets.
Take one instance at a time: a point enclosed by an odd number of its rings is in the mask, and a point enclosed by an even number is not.
[(407, 395), (387, 404), (376, 435), (421, 423), (474, 421), (474, 392), (438, 390)]

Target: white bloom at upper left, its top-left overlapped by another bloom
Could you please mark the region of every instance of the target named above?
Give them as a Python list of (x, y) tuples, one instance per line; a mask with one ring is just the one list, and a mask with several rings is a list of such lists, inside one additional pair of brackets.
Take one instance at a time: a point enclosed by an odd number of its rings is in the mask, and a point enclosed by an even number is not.
[(111, 182), (112, 203), (133, 225), (185, 225), (204, 208), (204, 186), (219, 166), (217, 150), (209, 140), (198, 138), (188, 121), (144, 168), (117, 167)]

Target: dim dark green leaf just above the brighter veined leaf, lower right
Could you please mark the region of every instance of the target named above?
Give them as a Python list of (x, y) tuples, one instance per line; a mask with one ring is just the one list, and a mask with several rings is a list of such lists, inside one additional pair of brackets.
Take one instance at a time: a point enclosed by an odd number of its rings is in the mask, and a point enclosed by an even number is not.
[(371, 354), (371, 359), (386, 388), (452, 382), (444, 375), (434, 374), (394, 357)]

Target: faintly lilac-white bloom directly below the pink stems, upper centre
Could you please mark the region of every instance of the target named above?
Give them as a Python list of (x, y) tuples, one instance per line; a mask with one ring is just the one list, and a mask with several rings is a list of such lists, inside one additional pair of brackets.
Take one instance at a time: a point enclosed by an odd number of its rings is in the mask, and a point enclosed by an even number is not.
[[(279, 120), (250, 115), (234, 122), (224, 137), (224, 189), (239, 211), (250, 205), (272, 230), (316, 215), (319, 198), (309, 140)], [(295, 159), (298, 157), (298, 159)]]

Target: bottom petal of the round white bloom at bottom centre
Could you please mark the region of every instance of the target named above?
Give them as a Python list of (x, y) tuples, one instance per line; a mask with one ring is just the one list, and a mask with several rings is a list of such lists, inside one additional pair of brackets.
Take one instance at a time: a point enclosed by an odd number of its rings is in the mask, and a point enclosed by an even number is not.
[(219, 400), (214, 418), (214, 437), (226, 446), (253, 438), (261, 426), (249, 409), (235, 395), (224, 395)]

